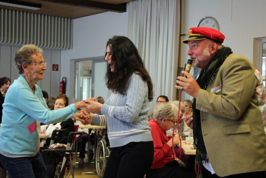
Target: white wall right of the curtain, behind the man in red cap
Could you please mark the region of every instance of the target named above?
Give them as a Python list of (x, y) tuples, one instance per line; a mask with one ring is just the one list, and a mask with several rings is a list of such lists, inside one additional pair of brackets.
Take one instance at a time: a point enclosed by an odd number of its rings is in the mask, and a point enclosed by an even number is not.
[[(223, 45), (233, 53), (253, 59), (254, 38), (266, 37), (266, 0), (182, 0), (181, 34), (188, 34), (201, 18), (213, 16), (225, 36)], [(187, 45), (180, 39), (181, 59), (187, 59)], [(182, 65), (185, 65), (186, 60)]]

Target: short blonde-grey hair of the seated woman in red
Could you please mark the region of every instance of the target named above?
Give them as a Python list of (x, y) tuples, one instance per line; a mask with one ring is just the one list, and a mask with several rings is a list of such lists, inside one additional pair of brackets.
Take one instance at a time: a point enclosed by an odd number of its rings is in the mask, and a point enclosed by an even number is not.
[(178, 105), (174, 105), (172, 102), (160, 103), (156, 105), (154, 109), (154, 119), (157, 122), (161, 122), (163, 118), (176, 121), (178, 116)]

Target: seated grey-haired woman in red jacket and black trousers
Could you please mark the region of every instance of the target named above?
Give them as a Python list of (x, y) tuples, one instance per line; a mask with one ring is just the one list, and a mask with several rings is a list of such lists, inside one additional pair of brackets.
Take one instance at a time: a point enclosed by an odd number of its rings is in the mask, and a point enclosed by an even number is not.
[[(179, 144), (177, 134), (166, 135), (177, 120), (178, 107), (171, 102), (158, 104), (154, 110), (154, 119), (149, 121), (154, 140), (154, 161), (146, 178), (195, 178), (196, 175), (182, 170), (174, 159), (172, 146)], [(173, 144), (172, 144), (173, 139)]]

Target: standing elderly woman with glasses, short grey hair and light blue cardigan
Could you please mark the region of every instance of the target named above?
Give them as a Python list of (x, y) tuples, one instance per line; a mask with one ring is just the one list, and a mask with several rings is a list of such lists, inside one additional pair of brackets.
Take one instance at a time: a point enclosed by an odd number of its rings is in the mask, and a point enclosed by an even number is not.
[[(54, 111), (47, 107), (36, 85), (47, 69), (42, 52), (35, 45), (23, 45), (15, 54), (20, 75), (5, 95), (0, 130), (0, 161), (9, 178), (48, 178), (39, 152), (40, 122), (57, 123), (70, 117), (89, 122), (84, 113), (75, 113), (87, 106), (84, 101)], [(84, 120), (79, 119), (82, 116)]]

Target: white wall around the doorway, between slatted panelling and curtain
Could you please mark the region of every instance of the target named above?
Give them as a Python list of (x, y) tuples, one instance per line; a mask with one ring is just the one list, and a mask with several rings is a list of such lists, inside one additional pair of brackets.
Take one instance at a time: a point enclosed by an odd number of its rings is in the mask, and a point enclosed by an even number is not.
[[(114, 35), (127, 36), (128, 12), (105, 12), (73, 21), (73, 49), (61, 51), (61, 76), (66, 77), (66, 95), (73, 101), (70, 59), (104, 56), (106, 42)], [(73, 77), (72, 77), (73, 78)]]

